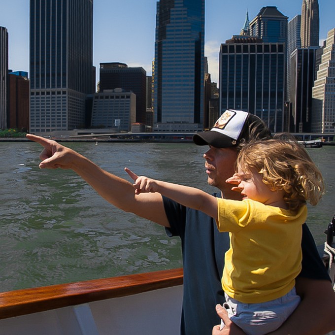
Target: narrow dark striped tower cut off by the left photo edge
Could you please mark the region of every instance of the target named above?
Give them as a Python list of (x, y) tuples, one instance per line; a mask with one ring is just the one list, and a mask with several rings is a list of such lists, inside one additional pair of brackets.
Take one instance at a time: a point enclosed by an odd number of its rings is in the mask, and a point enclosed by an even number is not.
[(0, 27), (0, 129), (7, 128), (8, 32)]

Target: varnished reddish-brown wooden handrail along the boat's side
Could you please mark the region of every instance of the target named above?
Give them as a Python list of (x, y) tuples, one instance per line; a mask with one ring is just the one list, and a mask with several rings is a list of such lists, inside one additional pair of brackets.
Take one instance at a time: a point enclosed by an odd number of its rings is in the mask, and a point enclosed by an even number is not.
[(183, 284), (182, 268), (0, 293), (0, 319)]

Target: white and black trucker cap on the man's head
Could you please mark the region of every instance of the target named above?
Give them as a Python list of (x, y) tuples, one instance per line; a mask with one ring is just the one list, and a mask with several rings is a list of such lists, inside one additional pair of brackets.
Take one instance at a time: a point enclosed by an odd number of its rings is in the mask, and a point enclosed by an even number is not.
[(227, 109), (210, 131), (194, 134), (193, 142), (197, 145), (228, 148), (239, 144), (242, 138), (248, 140), (245, 137), (248, 137), (249, 126), (253, 122), (263, 123), (256, 115), (242, 110)]

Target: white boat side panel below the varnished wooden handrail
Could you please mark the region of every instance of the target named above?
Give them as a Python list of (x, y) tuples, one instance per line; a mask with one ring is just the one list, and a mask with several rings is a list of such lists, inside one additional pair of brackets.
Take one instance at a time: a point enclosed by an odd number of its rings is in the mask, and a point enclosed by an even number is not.
[(175, 286), (12, 317), (0, 320), (0, 334), (176, 335), (182, 296), (182, 286)]

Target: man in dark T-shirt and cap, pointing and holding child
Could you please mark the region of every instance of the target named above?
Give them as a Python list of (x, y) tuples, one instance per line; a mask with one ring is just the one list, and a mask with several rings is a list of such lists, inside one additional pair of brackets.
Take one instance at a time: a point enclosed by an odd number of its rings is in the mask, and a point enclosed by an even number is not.
[[(209, 145), (203, 157), (208, 183), (220, 190), (215, 196), (240, 199), (240, 195), (225, 182), (234, 174), (238, 149), (243, 142), (269, 136), (267, 127), (259, 118), (242, 111), (226, 111), (211, 131), (194, 136), (197, 145)], [(213, 325), (220, 321), (214, 306), (224, 302), (221, 276), (224, 253), (230, 241), (228, 234), (218, 232), (210, 217), (162, 198), (160, 194), (135, 196), (130, 182), (102, 170), (79, 153), (42, 137), (27, 137), (44, 146), (40, 155), (41, 168), (72, 169), (116, 207), (156, 222), (166, 227), (167, 234), (181, 238), (184, 267), (182, 335), (206, 335), (212, 330), (215, 335), (214, 332), (243, 334), (219, 307), (217, 311), (227, 327), (222, 331), (213, 329)], [(297, 292), (302, 302), (274, 334), (321, 335), (335, 329), (332, 313), (335, 294), (306, 226), (303, 235), (302, 274), (297, 280)]]

